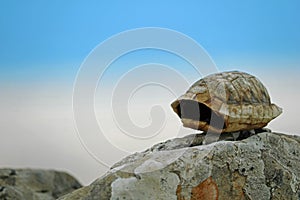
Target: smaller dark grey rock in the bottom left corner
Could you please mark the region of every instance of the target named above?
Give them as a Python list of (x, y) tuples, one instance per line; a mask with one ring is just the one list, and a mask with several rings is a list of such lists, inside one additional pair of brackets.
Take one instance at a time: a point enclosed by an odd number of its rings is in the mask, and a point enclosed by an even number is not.
[(0, 169), (0, 199), (53, 200), (81, 187), (64, 172), (34, 169)]

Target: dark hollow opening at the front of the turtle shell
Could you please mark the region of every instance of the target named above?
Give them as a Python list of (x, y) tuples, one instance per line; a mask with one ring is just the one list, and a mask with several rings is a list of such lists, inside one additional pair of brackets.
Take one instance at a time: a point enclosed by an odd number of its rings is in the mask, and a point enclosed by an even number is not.
[[(221, 127), (214, 128), (226, 128), (223, 116), (216, 113), (203, 103), (193, 100), (180, 100), (176, 110), (178, 116), (182, 119), (185, 118), (194, 121), (201, 121), (211, 126), (213, 126), (214, 124), (223, 124), (223, 126), (221, 125)], [(211, 123), (211, 119), (215, 120), (214, 123)]]

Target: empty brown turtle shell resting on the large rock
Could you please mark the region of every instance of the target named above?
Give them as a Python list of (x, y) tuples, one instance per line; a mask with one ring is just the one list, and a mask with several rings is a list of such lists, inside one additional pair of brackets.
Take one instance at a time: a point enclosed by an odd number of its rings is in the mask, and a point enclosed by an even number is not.
[(185, 127), (215, 132), (262, 128), (282, 113), (256, 77), (239, 71), (200, 79), (171, 106)]

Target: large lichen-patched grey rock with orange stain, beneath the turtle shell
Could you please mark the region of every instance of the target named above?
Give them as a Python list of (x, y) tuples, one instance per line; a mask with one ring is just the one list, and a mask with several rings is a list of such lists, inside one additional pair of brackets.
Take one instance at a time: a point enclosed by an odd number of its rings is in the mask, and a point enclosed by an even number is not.
[(300, 137), (260, 133), (201, 145), (189, 135), (135, 153), (73, 199), (299, 199)]

